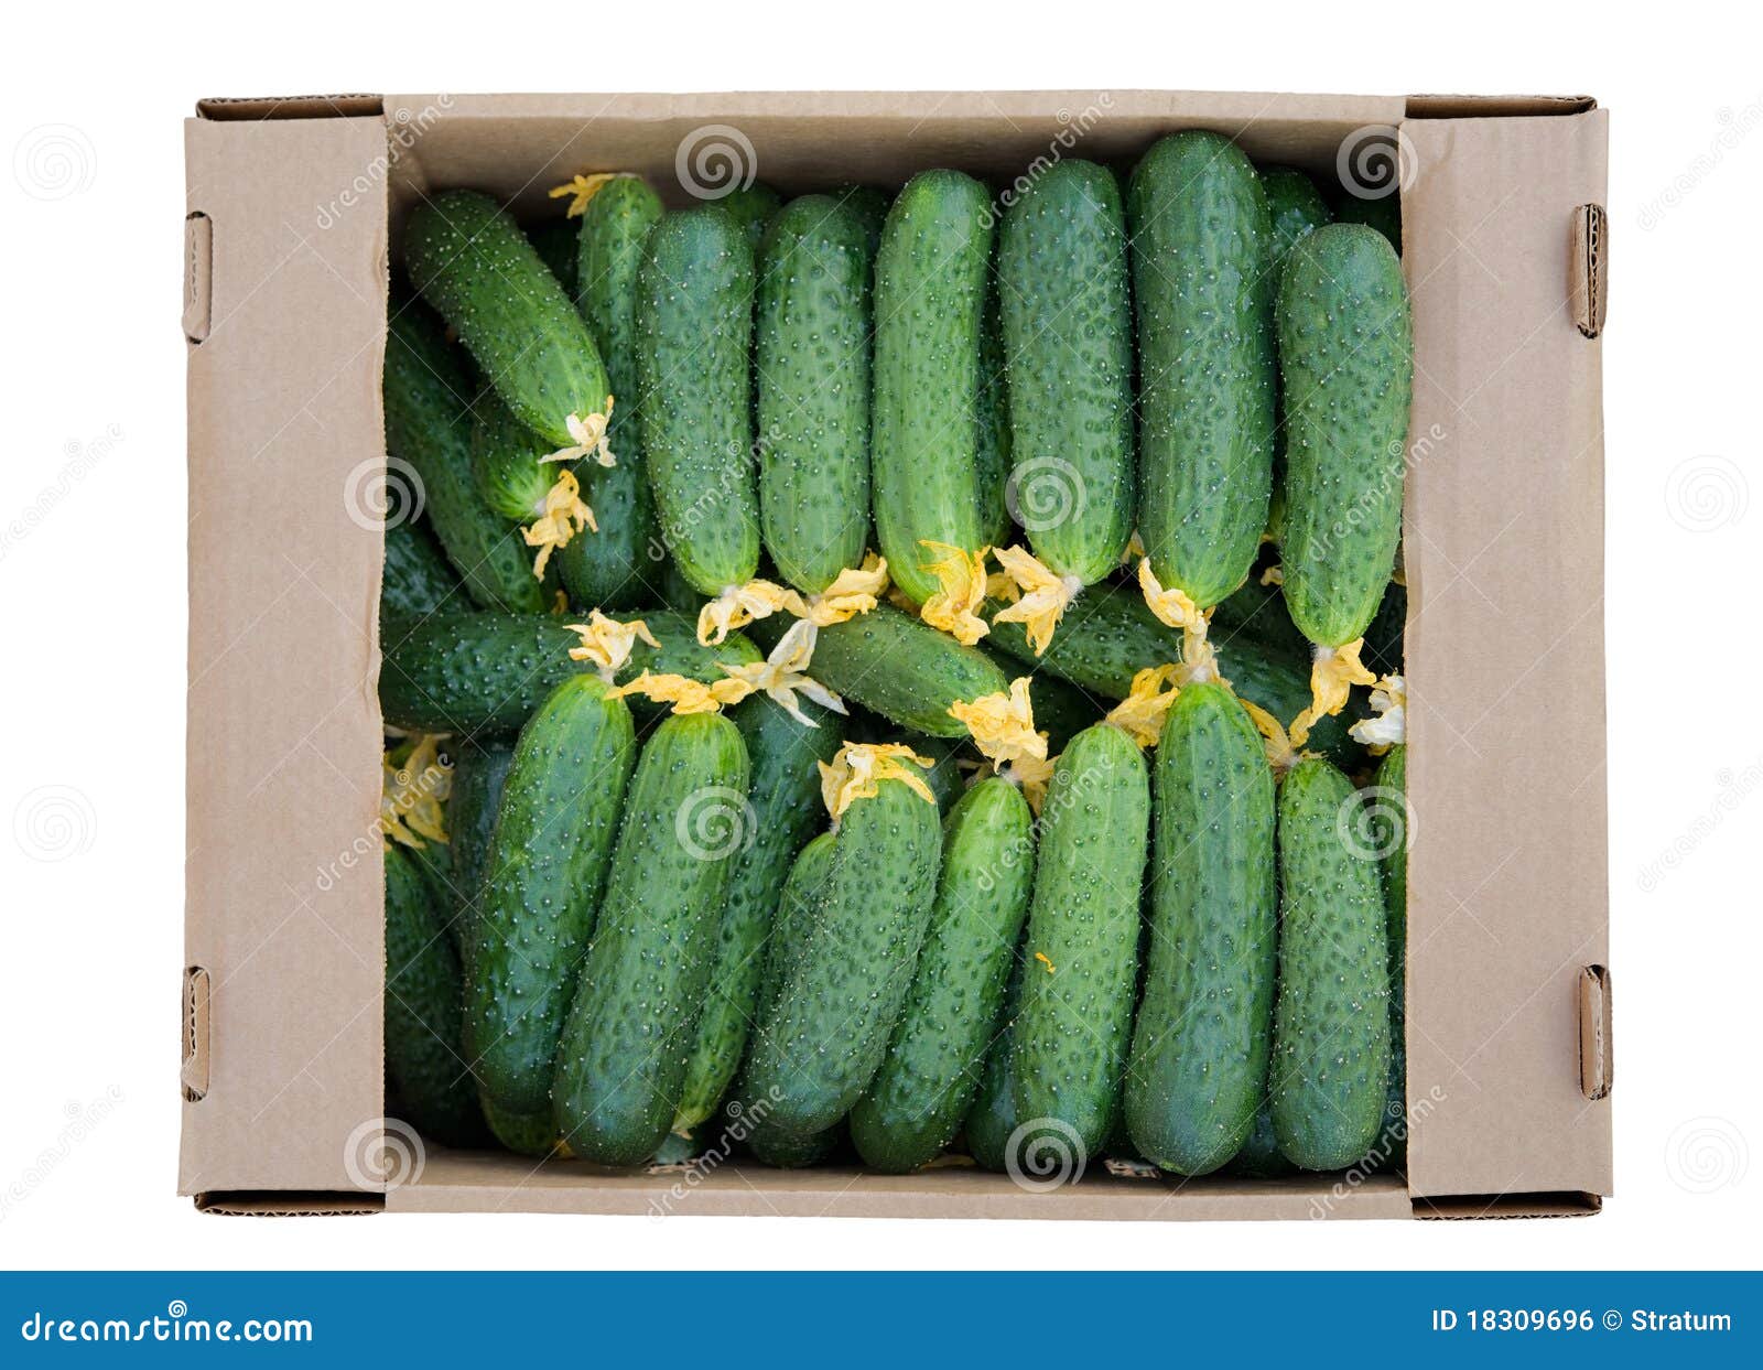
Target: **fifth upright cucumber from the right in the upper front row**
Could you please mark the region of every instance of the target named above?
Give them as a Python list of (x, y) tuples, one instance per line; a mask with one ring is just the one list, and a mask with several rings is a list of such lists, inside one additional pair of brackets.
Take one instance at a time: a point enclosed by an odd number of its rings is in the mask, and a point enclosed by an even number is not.
[(869, 250), (830, 196), (765, 231), (755, 383), (765, 552), (818, 594), (869, 541)]

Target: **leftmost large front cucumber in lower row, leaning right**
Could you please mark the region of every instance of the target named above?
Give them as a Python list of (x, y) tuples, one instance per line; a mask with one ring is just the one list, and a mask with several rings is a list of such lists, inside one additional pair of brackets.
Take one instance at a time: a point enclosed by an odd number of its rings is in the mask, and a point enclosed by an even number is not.
[(636, 751), (624, 700), (598, 675), (557, 686), (520, 730), (485, 860), (465, 987), (465, 1046), (483, 1091), (538, 1113), (594, 929)]

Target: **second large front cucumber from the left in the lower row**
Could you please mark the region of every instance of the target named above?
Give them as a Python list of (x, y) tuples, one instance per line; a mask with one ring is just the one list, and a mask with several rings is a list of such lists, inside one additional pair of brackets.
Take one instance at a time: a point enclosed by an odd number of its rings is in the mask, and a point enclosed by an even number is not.
[(557, 1132), (582, 1160), (636, 1165), (668, 1134), (746, 804), (748, 748), (721, 714), (673, 714), (643, 744), (557, 1047)]

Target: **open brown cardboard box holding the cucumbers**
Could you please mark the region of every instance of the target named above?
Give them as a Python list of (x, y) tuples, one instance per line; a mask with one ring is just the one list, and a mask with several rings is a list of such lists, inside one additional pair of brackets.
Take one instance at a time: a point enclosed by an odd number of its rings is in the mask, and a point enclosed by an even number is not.
[[(577, 171), (682, 203), (719, 138), (785, 192), (1010, 182), (1209, 127), (1324, 180), (1400, 130), (1416, 386), (1407, 1187), (721, 1165), (386, 1183), (377, 592), (388, 245), (414, 199), (520, 212)], [(709, 129), (709, 132), (707, 132)], [(1365, 130), (1373, 130), (1366, 134)], [(746, 148), (748, 152), (742, 152)], [(1596, 1211), (1610, 1174), (1603, 432), (1606, 115), (1590, 99), (1174, 92), (349, 95), (187, 125), (190, 644), (180, 1192), (215, 1211), (1289, 1218)], [(684, 1197), (675, 1197), (675, 1187)]]

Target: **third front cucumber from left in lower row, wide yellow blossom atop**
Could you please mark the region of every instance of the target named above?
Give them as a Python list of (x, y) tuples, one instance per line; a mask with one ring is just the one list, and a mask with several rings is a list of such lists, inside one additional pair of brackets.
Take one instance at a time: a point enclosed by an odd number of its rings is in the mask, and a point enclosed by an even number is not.
[(748, 1072), (776, 1128), (823, 1132), (882, 1065), (929, 926), (938, 848), (936, 804), (903, 781), (844, 811), (813, 927)]

